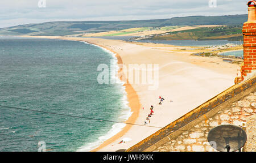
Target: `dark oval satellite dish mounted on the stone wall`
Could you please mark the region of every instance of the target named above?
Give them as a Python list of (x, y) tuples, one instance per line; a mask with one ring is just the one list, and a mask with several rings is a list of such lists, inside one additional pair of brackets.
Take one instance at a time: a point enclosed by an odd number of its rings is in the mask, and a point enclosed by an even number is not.
[(241, 149), (247, 140), (246, 132), (234, 125), (220, 125), (209, 131), (207, 140), (220, 152), (233, 152)]

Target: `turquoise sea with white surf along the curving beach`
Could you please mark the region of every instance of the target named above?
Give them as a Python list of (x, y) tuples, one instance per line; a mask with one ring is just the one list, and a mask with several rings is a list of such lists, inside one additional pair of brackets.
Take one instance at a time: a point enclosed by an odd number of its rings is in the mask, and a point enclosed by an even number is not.
[[(0, 105), (125, 121), (130, 108), (122, 84), (97, 82), (98, 65), (110, 67), (110, 59), (84, 42), (0, 37)], [(39, 141), (53, 151), (86, 151), (121, 127), (0, 107), (0, 151), (38, 151)]]

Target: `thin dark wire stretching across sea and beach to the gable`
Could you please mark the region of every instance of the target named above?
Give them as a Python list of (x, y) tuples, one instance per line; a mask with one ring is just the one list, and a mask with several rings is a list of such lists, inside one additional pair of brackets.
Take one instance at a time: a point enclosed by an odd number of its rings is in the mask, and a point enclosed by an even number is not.
[[(96, 118), (89, 118), (89, 117), (81, 117), (81, 116), (77, 116), (77, 115), (53, 113), (53, 112), (49, 112), (49, 111), (40, 111), (40, 110), (32, 110), (32, 109), (25, 109), (25, 108), (17, 108), (17, 107), (13, 107), (13, 106), (0, 105), (0, 107), (1, 107), (1, 108), (10, 108), (10, 109), (26, 110), (26, 111), (35, 111), (35, 112), (45, 113), (45, 114), (62, 115), (62, 116), (73, 117), (73, 118), (83, 118), (83, 119), (88, 119), (88, 120), (92, 120), (92, 121), (112, 122), (112, 123), (123, 123), (123, 124), (126, 124), (126, 125), (134, 125), (134, 126), (142, 126), (142, 127), (152, 127), (152, 128), (167, 128), (167, 127), (140, 125), (140, 124), (135, 124), (135, 123), (127, 123), (127, 122), (110, 121), (110, 120), (105, 120), (105, 119), (96, 119)], [(180, 129), (175, 129), (175, 128), (167, 128), (167, 129), (168, 129), (168, 130), (175, 130), (175, 131), (199, 132), (199, 133), (208, 134), (208, 132), (200, 132), (200, 131), (180, 130)]]

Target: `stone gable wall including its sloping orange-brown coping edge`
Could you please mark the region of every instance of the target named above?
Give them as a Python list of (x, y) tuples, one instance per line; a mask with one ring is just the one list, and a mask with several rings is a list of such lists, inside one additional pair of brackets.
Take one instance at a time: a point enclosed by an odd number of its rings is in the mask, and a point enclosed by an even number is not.
[[(201, 133), (205, 136), (210, 128), (213, 128), (219, 124), (233, 123), (234, 125), (240, 125), (241, 122), (245, 122), (244, 119), (246, 117), (251, 114), (255, 114), (250, 113), (251, 111), (255, 111), (251, 110), (255, 107), (255, 94), (252, 92), (256, 92), (256, 75), (226, 89), (224, 92), (221, 92), (217, 96), (204, 102), (204, 104), (197, 106), (197, 108), (189, 111), (187, 114), (176, 119), (174, 122), (163, 127), (159, 131), (156, 131), (154, 134), (133, 145), (133, 147), (130, 147), (126, 151), (151, 152), (160, 151), (160, 149), (162, 149), (162, 151), (168, 151), (168, 148), (165, 148), (164, 145), (170, 144), (171, 140), (176, 140), (178, 136), (181, 136), (180, 139), (183, 139), (183, 135), (185, 135), (184, 137), (188, 139), (189, 135), (192, 134), (189, 132), (184, 133), (184, 131), (197, 130), (196, 133)], [(226, 110), (228, 108), (229, 110)], [(197, 125), (199, 125), (199, 127)], [(176, 145), (183, 144), (181, 140), (178, 141), (176, 142)], [(203, 139), (200, 138), (200, 141), (203, 141)], [(175, 141), (173, 141), (173, 143), (174, 142)], [(202, 142), (196, 144), (200, 145), (200, 143), (203, 144)], [(171, 147), (173, 147), (173, 145), (171, 145)], [(169, 151), (172, 151), (171, 147)], [(192, 147), (188, 147), (188, 149), (190, 148)], [(194, 148), (196, 148), (196, 146)], [(175, 150), (179, 151), (178, 149), (185, 151), (187, 150), (187, 147), (179, 146)]]

